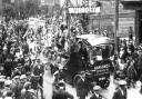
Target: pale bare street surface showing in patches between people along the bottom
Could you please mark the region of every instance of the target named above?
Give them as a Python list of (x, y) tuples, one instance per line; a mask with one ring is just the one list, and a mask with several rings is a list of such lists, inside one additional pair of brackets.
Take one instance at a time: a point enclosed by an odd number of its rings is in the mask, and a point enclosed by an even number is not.
[[(49, 97), (48, 97), (49, 96), (49, 91), (52, 90), (52, 87), (50, 87), (51, 82), (49, 82), (49, 81), (52, 80), (52, 78), (50, 76), (48, 76), (48, 75), (49, 75), (49, 71), (45, 71), (44, 72), (44, 80), (43, 80), (43, 91), (44, 91), (44, 95), (45, 95), (45, 99), (49, 99)], [(113, 82), (113, 77), (111, 76), (110, 87), (108, 89), (100, 90), (100, 92), (106, 99), (112, 99), (112, 96), (113, 96), (113, 92), (115, 90), (115, 87), (116, 87), (116, 85)], [(140, 83), (138, 82), (135, 88), (128, 89), (128, 99), (142, 99), (142, 95), (139, 92), (139, 90), (140, 90)], [(77, 93), (75, 93), (75, 89), (72, 88), (68, 83), (67, 83), (67, 91), (72, 93), (74, 96), (74, 99), (78, 99), (77, 98)], [(89, 99), (90, 96), (91, 95), (89, 95), (87, 99)]]

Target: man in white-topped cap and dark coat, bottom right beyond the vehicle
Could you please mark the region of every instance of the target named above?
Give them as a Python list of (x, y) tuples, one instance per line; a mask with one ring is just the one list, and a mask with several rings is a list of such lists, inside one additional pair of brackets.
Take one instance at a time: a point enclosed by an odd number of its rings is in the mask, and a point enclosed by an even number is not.
[(119, 87), (116, 88), (112, 99), (126, 99), (128, 98), (128, 91), (126, 91), (125, 85), (126, 85), (126, 81), (124, 80), (119, 81)]

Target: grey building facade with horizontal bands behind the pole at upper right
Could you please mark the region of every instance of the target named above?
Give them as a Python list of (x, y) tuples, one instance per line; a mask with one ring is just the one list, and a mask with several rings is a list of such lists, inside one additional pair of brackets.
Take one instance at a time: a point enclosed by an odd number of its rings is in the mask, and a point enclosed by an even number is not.
[[(90, 28), (97, 29), (100, 26), (101, 31), (108, 30), (108, 33), (113, 37), (115, 24), (115, 0), (100, 0), (100, 2), (102, 3), (101, 13), (100, 16), (91, 14), (90, 22), (92, 22), (92, 26)], [(119, 32), (116, 33), (116, 37), (128, 38), (130, 27), (132, 27), (133, 36), (135, 36), (134, 18), (135, 11), (124, 10), (122, 3), (119, 2)]]

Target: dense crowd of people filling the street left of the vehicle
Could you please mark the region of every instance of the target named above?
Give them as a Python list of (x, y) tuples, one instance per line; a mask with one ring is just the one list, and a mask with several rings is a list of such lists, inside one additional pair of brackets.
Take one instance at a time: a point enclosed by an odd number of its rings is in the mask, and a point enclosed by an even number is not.
[[(45, 27), (31, 28), (28, 20), (1, 21), (0, 97), (39, 99), (40, 92), (43, 99), (44, 67), (50, 66), (52, 75), (62, 68), (65, 62), (63, 59), (69, 55), (69, 44), (74, 40), (67, 34), (65, 26), (60, 22), (52, 19), (47, 21)], [(45, 61), (39, 58), (41, 53), (47, 58)], [(73, 99), (70, 93), (67, 97)]]

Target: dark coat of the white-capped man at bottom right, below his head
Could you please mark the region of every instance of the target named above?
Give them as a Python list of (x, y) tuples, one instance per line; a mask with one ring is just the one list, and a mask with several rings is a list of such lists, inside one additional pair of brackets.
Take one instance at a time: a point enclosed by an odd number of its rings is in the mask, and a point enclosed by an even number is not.
[(118, 88), (118, 89), (115, 90), (115, 92), (114, 92), (112, 99), (126, 99), (126, 96), (128, 96), (128, 93), (126, 93), (126, 88), (123, 89), (123, 95), (122, 95), (122, 92), (121, 92), (121, 89)]

